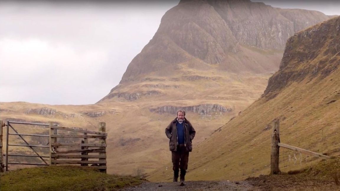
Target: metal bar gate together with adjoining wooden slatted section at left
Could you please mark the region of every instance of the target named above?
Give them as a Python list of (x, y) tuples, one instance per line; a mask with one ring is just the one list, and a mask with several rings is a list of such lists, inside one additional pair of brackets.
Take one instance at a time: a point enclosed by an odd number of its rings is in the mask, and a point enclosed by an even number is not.
[[(12, 124), (24, 124), (24, 125), (37, 125), (45, 128), (49, 128), (49, 135), (36, 135), (36, 134), (22, 134), (12, 126)], [(6, 126), (6, 154), (5, 164), (2, 160), (2, 127)], [(10, 133), (13, 130), (15, 133)], [(62, 132), (66, 132), (62, 133)], [(78, 127), (60, 127), (45, 123), (28, 123), (28, 122), (14, 122), (7, 121), (7, 124), (3, 124), (0, 121), (0, 171), (3, 171), (3, 167), (8, 171), (8, 164), (22, 164), (22, 165), (40, 165), (49, 166), (57, 164), (81, 164), (81, 166), (88, 166), (100, 169), (101, 172), (106, 173), (106, 126), (104, 122), (99, 124), (99, 131), (87, 131)], [(19, 136), (25, 144), (9, 144), (9, 136)], [(32, 145), (23, 137), (46, 137), (46, 145)], [(75, 141), (72, 139), (80, 139)], [(35, 155), (13, 154), (8, 150), (10, 146), (25, 146), (35, 153)], [(41, 156), (34, 148), (46, 148), (49, 151), (49, 156)], [(48, 155), (48, 154), (46, 154)], [(10, 157), (38, 157), (43, 163), (27, 163), (27, 162), (10, 162)], [(47, 158), (47, 160), (46, 160)], [(49, 160), (48, 160), (49, 159)], [(80, 160), (77, 160), (80, 159)], [(91, 159), (91, 160), (89, 160)], [(97, 160), (96, 160), (97, 159)]]

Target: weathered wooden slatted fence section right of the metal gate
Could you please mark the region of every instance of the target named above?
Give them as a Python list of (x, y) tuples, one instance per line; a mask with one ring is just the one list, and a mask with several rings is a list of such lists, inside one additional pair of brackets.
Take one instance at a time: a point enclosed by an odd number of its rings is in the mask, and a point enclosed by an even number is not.
[[(61, 131), (76, 132), (78, 135), (63, 135), (60, 133)], [(88, 164), (92, 164), (91, 167), (106, 173), (106, 136), (104, 122), (100, 123), (99, 132), (53, 126), (50, 123), (51, 165), (81, 164), (81, 166), (88, 166)], [(83, 140), (81, 143), (63, 143), (58, 141), (60, 138), (82, 138)]]

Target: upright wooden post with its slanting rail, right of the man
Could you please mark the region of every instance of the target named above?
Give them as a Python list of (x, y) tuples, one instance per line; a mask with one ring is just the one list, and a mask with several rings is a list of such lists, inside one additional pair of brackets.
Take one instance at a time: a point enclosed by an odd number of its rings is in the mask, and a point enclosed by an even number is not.
[(300, 153), (304, 153), (307, 155), (312, 155), (314, 157), (319, 157), (322, 159), (330, 159), (329, 156), (326, 155), (322, 155), (319, 153), (315, 153), (312, 151), (308, 151), (305, 149), (301, 149), (299, 147), (296, 146), (291, 146), (288, 144), (283, 144), (280, 143), (280, 123), (278, 119), (275, 119), (273, 121), (273, 133), (272, 133), (272, 151), (271, 151), (271, 155), (270, 155), (270, 174), (279, 174), (280, 170), (278, 168), (278, 163), (279, 163), (279, 147), (283, 147), (286, 149), (290, 149), (293, 151), (297, 151)]

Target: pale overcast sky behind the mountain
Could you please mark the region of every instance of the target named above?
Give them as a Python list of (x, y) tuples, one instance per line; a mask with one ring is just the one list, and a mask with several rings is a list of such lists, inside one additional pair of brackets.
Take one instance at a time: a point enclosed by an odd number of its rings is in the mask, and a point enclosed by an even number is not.
[[(173, 1), (0, 1), (0, 102), (93, 104), (118, 85)], [(340, 14), (338, 1), (278, 1)]]

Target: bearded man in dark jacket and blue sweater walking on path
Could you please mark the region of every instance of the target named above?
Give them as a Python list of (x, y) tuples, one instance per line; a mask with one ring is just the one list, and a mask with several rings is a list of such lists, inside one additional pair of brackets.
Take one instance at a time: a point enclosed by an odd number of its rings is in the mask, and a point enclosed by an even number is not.
[(183, 109), (177, 110), (177, 117), (165, 129), (165, 134), (170, 139), (169, 149), (172, 157), (173, 181), (178, 181), (179, 171), (181, 170), (181, 185), (184, 185), (189, 152), (192, 151), (191, 141), (195, 137), (195, 133), (195, 129), (185, 118)]

